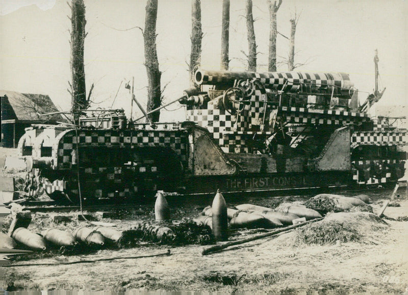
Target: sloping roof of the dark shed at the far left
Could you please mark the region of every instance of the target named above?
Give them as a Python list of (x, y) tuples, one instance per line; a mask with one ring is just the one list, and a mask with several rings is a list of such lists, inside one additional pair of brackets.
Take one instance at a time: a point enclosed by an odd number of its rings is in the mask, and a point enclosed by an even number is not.
[(2, 120), (16, 119), (35, 122), (66, 121), (60, 114), (39, 116), (38, 113), (58, 112), (48, 95), (0, 90)]

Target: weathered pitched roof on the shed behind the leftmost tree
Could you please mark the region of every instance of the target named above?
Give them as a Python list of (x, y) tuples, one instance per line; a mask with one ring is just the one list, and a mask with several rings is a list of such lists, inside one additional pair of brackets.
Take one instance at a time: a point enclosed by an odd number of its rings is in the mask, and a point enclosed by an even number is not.
[[(20, 93), (16, 91), (0, 90), (0, 96), (7, 95), (10, 106), (14, 110), (15, 116), (18, 120), (63, 120), (61, 115), (54, 115), (52, 117), (40, 117), (40, 114), (49, 112), (58, 112), (59, 110), (54, 105), (53, 101), (48, 95), (44, 94), (30, 94)], [(6, 119), (6, 118), (4, 118)]]

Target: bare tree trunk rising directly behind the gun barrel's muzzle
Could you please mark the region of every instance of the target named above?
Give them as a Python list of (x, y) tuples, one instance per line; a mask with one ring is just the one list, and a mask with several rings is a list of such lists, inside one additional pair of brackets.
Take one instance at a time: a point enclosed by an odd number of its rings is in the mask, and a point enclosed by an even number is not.
[(193, 0), (191, 5), (191, 53), (190, 53), (190, 86), (199, 89), (195, 83), (194, 73), (197, 70), (201, 59), (201, 1)]

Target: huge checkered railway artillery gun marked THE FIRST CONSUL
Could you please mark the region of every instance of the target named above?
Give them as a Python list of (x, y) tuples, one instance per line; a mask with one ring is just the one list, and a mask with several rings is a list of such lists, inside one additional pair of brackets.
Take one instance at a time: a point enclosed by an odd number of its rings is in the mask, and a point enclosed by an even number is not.
[(404, 175), (406, 130), (371, 118), (346, 73), (199, 69), (195, 80), (200, 91), (174, 101), (186, 106), (183, 122), (95, 110), (79, 126), (28, 128), (18, 144), (28, 180), (77, 203), (157, 190), (386, 186)]

